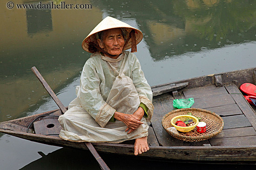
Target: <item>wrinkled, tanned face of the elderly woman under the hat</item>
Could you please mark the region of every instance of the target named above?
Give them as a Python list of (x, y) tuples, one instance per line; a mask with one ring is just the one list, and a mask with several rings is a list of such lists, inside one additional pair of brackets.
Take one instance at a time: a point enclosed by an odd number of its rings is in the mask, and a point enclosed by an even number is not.
[(102, 41), (100, 39), (97, 41), (103, 50), (113, 56), (120, 55), (123, 50), (124, 38), (120, 28), (104, 31)]

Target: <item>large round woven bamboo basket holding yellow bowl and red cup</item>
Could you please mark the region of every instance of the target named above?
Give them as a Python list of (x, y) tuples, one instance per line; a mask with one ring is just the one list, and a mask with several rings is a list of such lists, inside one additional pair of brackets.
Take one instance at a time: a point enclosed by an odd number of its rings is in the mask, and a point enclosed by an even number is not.
[[(171, 124), (172, 118), (178, 115), (186, 115), (188, 113), (192, 113), (195, 117), (202, 118), (201, 121), (205, 122), (207, 125), (206, 132), (199, 133), (196, 131), (196, 127), (190, 132), (174, 133), (168, 130), (169, 127), (173, 127)], [(165, 114), (162, 118), (162, 126), (166, 132), (176, 139), (187, 142), (199, 142), (218, 135), (223, 129), (224, 121), (219, 115), (208, 110), (200, 108), (182, 108)]]

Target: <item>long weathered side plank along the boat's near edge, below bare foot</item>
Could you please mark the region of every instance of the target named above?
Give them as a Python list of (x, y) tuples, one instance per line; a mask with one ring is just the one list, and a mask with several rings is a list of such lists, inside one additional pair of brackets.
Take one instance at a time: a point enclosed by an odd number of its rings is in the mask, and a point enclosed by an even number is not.
[[(1, 131), (1, 129), (0, 129)], [(54, 136), (43, 136), (33, 133), (2, 130), (1, 132), (47, 145), (72, 147), (87, 150), (83, 142), (71, 142)], [(134, 155), (134, 145), (94, 143), (97, 151)], [(151, 146), (150, 150), (140, 157), (182, 159), (195, 161), (256, 161), (256, 146)]]

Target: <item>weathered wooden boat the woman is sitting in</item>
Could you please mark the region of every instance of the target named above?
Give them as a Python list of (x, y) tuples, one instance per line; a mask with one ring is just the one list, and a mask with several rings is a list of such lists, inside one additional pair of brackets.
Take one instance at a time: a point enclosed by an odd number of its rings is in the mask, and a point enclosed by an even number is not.
[[(256, 84), (256, 68), (216, 75), (201, 76), (152, 87), (154, 116), (150, 122), (148, 144), (150, 150), (143, 158), (183, 160), (195, 162), (256, 164), (256, 107), (250, 106), (239, 87), (249, 82)], [(222, 132), (201, 142), (185, 142), (171, 137), (162, 127), (162, 117), (175, 110), (173, 100), (193, 97), (192, 107), (202, 108), (220, 115), (224, 120)], [(61, 129), (53, 110), (0, 123), (0, 132), (22, 139), (62, 147), (86, 149), (83, 142), (70, 142), (58, 137)], [(36, 121), (36, 118), (40, 117)], [(32, 123), (34, 121), (34, 123)], [(29, 128), (27, 129), (27, 127)], [(134, 145), (93, 143), (100, 152), (133, 155)]]

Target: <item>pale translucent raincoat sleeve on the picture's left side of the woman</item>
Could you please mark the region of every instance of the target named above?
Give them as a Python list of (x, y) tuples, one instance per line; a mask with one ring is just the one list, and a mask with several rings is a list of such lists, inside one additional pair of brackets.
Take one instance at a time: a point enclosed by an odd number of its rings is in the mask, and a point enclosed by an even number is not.
[(104, 127), (115, 113), (115, 109), (108, 105), (102, 98), (100, 91), (100, 78), (96, 64), (88, 60), (81, 73), (80, 88), (77, 97), (81, 106)]

